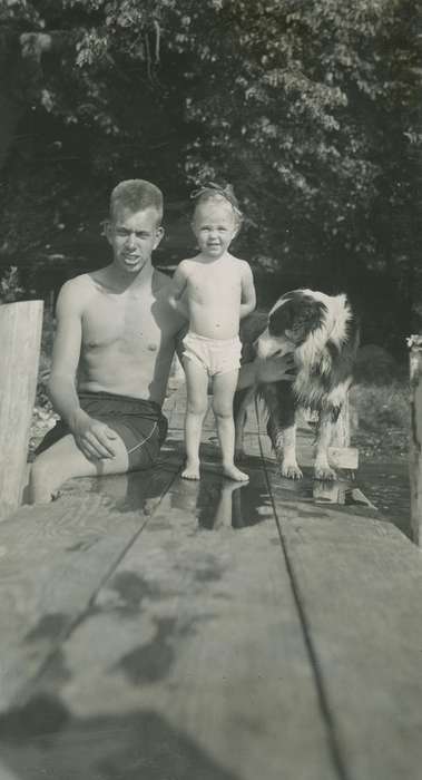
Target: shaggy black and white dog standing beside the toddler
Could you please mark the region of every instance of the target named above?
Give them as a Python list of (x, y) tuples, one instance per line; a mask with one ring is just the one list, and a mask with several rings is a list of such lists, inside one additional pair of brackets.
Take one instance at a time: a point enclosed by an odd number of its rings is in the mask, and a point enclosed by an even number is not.
[(236, 452), (243, 452), (246, 408), (258, 393), (268, 411), (267, 433), (282, 475), (301, 479), (296, 460), (295, 415), (298, 408), (316, 411), (315, 478), (334, 479), (327, 449), (352, 382), (359, 347), (359, 325), (346, 295), (294, 290), (283, 295), (269, 314), (254, 312), (241, 328), (243, 358), (293, 354), (295, 379), (259, 384), (235, 397)]

